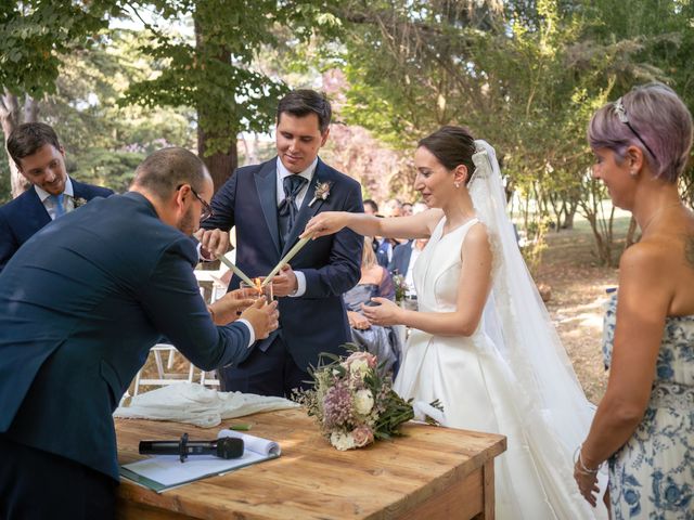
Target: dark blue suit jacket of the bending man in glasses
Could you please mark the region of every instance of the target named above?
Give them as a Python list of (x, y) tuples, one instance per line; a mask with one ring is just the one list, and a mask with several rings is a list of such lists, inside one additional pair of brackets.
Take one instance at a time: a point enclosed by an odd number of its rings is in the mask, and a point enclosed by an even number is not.
[(132, 192), (27, 240), (0, 273), (0, 432), (118, 479), (112, 413), (162, 335), (204, 369), (252, 350), (245, 325), (213, 324), (197, 260)]

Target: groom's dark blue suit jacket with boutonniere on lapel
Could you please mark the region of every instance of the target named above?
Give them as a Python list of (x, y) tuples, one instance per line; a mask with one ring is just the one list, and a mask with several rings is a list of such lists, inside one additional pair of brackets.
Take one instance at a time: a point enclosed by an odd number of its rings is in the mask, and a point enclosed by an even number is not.
[[(318, 183), (331, 182), (330, 196), (309, 207)], [(299, 208), (290, 238), (280, 249), (277, 202), (277, 158), (239, 168), (211, 202), (215, 216), (206, 229), (236, 226), (236, 265), (248, 276), (265, 276), (277, 265), (319, 211), (363, 212), (357, 181), (318, 160), (311, 185)], [(344, 353), (338, 347), (351, 341), (342, 295), (361, 277), (363, 238), (345, 229), (307, 244), (290, 262), (306, 275), (306, 292), (280, 298), (280, 330), (264, 340), (252, 355), (262, 355), (281, 334), (296, 364), (316, 366), (320, 352)], [(239, 286), (234, 275), (230, 288)], [(281, 377), (281, 376), (280, 376)]]

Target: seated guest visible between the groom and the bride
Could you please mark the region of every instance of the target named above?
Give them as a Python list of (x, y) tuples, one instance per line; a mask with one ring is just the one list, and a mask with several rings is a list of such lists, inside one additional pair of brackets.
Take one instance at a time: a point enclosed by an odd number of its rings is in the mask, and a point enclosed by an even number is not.
[(371, 298), (381, 297), (395, 300), (395, 286), (390, 274), (376, 263), (371, 247), (372, 239), (364, 238), (361, 260), (361, 278), (359, 283), (344, 295), (347, 306), (347, 317), (351, 326), (352, 340), (385, 362), (384, 373), (397, 373), (402, 346), (391, 327), (372, 325), (362, 313), (362, 306), (369, 304)]

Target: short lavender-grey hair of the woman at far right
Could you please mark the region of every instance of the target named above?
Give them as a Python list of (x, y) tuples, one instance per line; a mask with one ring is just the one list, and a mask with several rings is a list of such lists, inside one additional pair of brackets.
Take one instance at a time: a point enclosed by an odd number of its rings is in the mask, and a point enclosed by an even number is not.
[(677, 182), (692, 147), (692, 115), (669, 87), (653, 82), (599, 109), (588, 126), (591, 148), (612, 150), (618, 164), (638, 146), (656, 178)]

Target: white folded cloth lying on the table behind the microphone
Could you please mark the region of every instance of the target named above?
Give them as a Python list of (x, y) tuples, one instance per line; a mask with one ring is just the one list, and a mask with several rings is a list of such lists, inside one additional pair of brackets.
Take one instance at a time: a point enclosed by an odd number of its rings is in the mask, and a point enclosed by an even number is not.
[(129, 406), (118, 406), (113, 416), (126, 419), (172, 420), (211, 428), (222, 419), (297, 406), (297, 403), (284, 398), (220, 392), (191, 382), (169, 385), (136, 395)]

